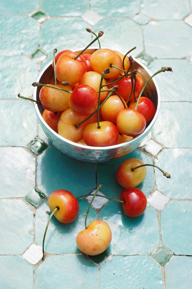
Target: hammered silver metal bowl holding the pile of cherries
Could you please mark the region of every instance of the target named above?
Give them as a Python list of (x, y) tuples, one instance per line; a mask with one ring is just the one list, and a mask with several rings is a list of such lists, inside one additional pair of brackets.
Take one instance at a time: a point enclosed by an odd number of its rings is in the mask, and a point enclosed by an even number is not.
[[(80, 52), (82, 51), (82, 49), (83, 48), (79, 48), (72, 51)], [(86, 53), (93, 53), (93, 51), (97, 49), (98, 47), (91, 47), (90, 49), (86, 50)], [(125, 54), (124, 52), (121, 53)], [(137, 60), (136, 58), (133, 59), (135, 62), (135, 69), (138, 71), (138, 73), (142, 75), (145, 83), (152, 74), (150, 73), (148, 68), (146, 68), (146, 66), (143, 65), (139, 60)], [(44, 69), (41, 71), (36, 81), (43, 84), (54, 84), (52, 62), (50, 62), (44, 67)], [(34, 100), (39, 101), (40, 89), (41, 87), (34, 88), (33, 92)], [(138, 147), (138, 145), (142, 142), (142, 140), (149, 134), (150, 130), (152, 129), (159, 114), (161, 102), (159, 87), (154, 78), (146, 86), (143, 95), (145, 97), (148, 97), (155, 105), (156, 113), (153, 120), (147, 123), (145, 130), (139, 136), (133, 138), (133, 140), (129, 140), (128, 142), (124, 142), (123, 144), (116, 144), (109, 147), (89, 147), (82, 144), (77, 144), (75, 142), (71, 142), (70, 140), (63, 138), (55, 131), (53, 131), (42, 118), (42, 113), (44, 110), (42, 105), (34, 103), (34, 106), (39, 123), (44, 133), (46, 134), (48, 139), (53, 143), (53, 145), (57, 147), (60, 151), (69, 155), (72, 158), (84, 162), (105, 162), (107, 160), (121, 158), (124, 155), (131, 153), (131, 151), (135, 150)]]

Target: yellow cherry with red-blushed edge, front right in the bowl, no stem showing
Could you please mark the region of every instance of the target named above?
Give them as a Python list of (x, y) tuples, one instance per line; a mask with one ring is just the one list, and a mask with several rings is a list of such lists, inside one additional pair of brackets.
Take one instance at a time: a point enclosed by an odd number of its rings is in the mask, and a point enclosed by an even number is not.
[(133, 108), (123, 108), (117, 115), (116, 126), (121, 134), (134, 137), (144, 131), (146, 120), (137, 110)]

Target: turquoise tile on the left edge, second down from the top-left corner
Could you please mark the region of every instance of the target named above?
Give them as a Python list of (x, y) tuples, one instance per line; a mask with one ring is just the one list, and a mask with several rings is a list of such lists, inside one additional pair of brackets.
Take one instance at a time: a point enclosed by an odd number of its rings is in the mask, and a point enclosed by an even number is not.
[(0, 26), (0, 55), (28, 55), (37, 48), (39, 24), (33, 19), (1, 16)]

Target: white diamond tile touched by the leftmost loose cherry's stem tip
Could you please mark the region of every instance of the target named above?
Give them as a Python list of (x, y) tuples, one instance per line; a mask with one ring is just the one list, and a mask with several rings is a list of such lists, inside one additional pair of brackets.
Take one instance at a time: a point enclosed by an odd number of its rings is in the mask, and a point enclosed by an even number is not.
[(33, 265), (37, 264), (43, 257), (42, 247), (36, 244), (31, 244), (31, 246), (25, 251), (22, 257)]

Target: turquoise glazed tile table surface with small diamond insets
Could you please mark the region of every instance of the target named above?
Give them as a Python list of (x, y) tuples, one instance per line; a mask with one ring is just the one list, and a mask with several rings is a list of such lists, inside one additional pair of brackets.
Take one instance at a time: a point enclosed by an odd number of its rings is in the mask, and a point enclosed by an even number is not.
[[(1, 3), (0, 110), (1, 288), (192, 288), (191, 73), (192, 1), (171, 0), (33, 0)], [(31, 103), (31, 83), (57, 47), (85, 46), (104, 31), (103, 46), (127, 51), (152, 72), (171, 66), (174, 73), (156, 77), (161, 110), (152, 133), (123, 159), (101, 164), (76, 161), (48, 142)], [(84, 228), (88, 207), (64, 225), (50, 222), (42, 262), (42, 239), (48, 220), (47, 197), (65, 188), (76, 196), (99, 182), (103, 194), (118, 197), (118, 165), (140, 158), (166, 169), (171, 180), (147, 168), (140, 189), (148, 197), (145, 213), (129, 218), (121, 204), (99, 199), (89, 221), (102, 218), (112, 229), (107, 252), (80, 253), (75, 238)]]

